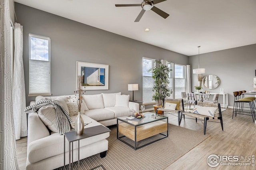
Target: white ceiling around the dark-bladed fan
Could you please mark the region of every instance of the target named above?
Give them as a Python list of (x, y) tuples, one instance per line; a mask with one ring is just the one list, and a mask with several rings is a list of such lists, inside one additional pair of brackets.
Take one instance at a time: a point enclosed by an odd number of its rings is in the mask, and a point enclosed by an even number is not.
[(256, 0), (166, 0), (155, 6), (168, 18), (150, 10), (140, 22), (140, 6), (115, 4), (142, 0), (14, 1), (188, 56), (198, 54), (198, 45), (207, 53), (256, 43)]

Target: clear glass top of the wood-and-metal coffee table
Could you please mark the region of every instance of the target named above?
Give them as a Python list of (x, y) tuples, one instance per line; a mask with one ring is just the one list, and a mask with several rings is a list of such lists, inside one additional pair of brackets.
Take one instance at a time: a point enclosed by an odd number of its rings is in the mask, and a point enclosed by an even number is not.
[(143, 115), (144, 115), (144, 118), (136, 119), (138, 121), (135, 121), (133, 119), (127, 119), (129, 116), (118, 117), (117, 119), (136, 126), (136, 125), (142, 125), (142, 124), (146, 124), (146, 123), (159, 121), (159, 120), (168, 118), (168, 117), (162, 116), (162, 115), (157, 115), (156, 117), (154, 117), (154, 113), (151, 113), (151, 112), (144, 112)]

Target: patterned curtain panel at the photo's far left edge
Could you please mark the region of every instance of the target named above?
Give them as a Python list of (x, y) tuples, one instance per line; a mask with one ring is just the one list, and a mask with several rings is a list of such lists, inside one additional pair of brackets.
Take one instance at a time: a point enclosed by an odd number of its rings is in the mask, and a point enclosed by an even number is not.
[(0, 0), (0, 170), (17, 170), (12, 113), (9, 0)]

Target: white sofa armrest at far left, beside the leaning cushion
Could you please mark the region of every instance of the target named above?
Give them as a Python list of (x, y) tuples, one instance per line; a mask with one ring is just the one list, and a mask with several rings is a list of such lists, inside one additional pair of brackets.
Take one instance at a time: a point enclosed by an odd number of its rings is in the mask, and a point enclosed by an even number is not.
[[(49, 136), (50, 132), (38, 116), (38, 113), (28, 114), (28, 144), (34, 140)], [(29, 146), (29, 145), (28, 145)]]

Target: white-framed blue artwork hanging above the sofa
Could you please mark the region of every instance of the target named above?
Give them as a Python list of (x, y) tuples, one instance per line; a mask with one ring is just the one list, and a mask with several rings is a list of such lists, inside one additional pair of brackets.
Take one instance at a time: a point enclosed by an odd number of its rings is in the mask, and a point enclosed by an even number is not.
[(76, 79), (78, 75), (81, 75), (83, 89), (108, 90), (108, 65), (76, 61)]

